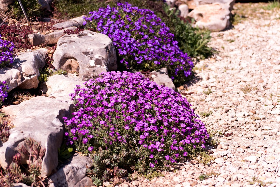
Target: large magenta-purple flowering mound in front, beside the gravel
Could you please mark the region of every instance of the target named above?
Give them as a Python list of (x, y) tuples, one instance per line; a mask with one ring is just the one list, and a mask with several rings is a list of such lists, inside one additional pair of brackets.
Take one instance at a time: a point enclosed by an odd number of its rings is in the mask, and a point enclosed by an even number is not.
[(78, 151), (116, 149), (137, 152), (147, 166), (174, 164), (204, 148), (209, 138), (188, 101), (139, 72), (107, 72), (77, 86), (71, 94), (76, 111), (66, 119), (66, 137)]

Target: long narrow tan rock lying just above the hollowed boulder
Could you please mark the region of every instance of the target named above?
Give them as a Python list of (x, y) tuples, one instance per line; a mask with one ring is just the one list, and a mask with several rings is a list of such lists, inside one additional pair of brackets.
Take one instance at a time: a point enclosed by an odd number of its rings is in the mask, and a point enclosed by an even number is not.
[(77, 29), (77, 27), (69, 27), (63, 30), (58, 30), (56, 32), (53, 33), (49, 33), (49, 34), (29, 34), (28, 35), (28, 40), (32, 45), (41, 45), (41, 44), (56, 44), (58, 39), (65, 35), (64, 30), (75, 30)]

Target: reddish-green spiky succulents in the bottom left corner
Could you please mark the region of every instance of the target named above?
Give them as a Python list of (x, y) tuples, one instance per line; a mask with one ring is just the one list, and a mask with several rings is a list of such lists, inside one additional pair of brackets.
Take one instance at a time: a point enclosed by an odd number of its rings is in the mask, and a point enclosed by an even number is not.
[[(24, 145), (13, 156), (13, 162), (7, 169), (1, 169), (0, 184), (13, 186), (13, 183), (24, 183), (29, 186), (45, 186), (41, 176), (41, 166), (46, 149), (32, 138), (26, 138)], [(21, 164), (22, 157), (27, 157), (26, 165)]]

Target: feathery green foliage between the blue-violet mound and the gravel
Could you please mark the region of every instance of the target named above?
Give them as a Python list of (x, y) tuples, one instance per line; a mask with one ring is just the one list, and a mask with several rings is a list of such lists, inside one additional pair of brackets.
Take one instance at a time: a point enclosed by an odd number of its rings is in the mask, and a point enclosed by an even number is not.
[(169, 20), (165, 21), (174, 34), (178, 46), (183, 52), (190, 57), (199, 57), (201, 59), (211, 56), (214, 52), (213, 48), (208, 46), (210, 41), (210, 31), (200, 30), (198, 27), (192, 27), (190, 23), (185, 23), (178, 17), (178, 10), (169, 10), (170, 7), (165, 6), (164, 11), (167, 13)]

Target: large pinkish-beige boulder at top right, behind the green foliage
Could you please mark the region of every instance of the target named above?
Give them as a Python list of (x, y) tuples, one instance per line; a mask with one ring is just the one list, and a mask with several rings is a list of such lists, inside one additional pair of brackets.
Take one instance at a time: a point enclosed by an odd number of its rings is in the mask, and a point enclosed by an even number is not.
[(230, 15), (229, 5), (223, 3), (203, 4), (188, 14), (197, 21), (197, 27), (211, 31), (226, 29), (230, 25)]

